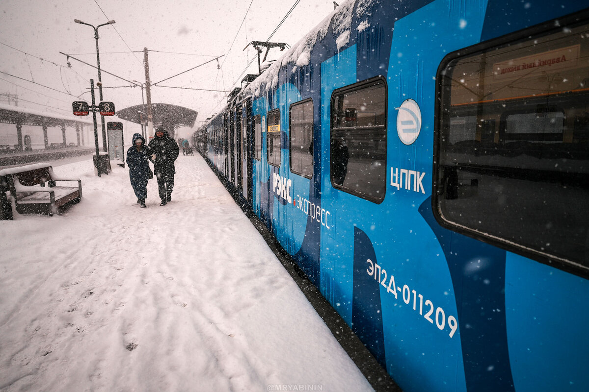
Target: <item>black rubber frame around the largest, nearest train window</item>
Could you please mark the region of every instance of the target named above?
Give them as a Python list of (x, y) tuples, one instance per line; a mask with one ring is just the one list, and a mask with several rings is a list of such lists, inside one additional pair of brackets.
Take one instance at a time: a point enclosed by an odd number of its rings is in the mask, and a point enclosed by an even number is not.
[[(434, 108), (434, 116), (436, 120), (434, 122), (434, 166), (432, 167), (431, 207), (436, 221), (445, 229), (449, 229), (453, 232), (463, 234), (484, 243), (491, 244), (492, 246), (497, 246), (508, 252), (520, 254), (524, 257), (528, 257), (531, 260), (556, 267), (557, 269), (560, 269), (564, 272), (573, 273), (577, 276), (587, 279), (589, 277), (589, 266), (578, 264), (569, 259), (564, 259), (561, 256), (557, 256), (556, 254), (548, 253), (547, 251), (535, 249), (535, 247), (532, 248), (526, 246), (525, 244), (515, 243), (508, 238), (499, 237), (497, 233), (481, 232), (474, 227), (469, 227), (461, 225), (461, 223), (455, 223), (451, 220), (446, 220), (441, 211), (441, 205), (439, 203), (443, 193), (443, 190), (441, 189), (443, 184), (439, 182), (439, 173), (441, 173), (442, 166), (442, 134), (444, 133), (444, 127), (446, 126), (445, 120), (447, 120), (449, 124), (449, 120), (451, 119), (449, 111), (447, 109), (444, 110), (445, 108), (449, 108), (451, 94), (444, 92), (444, 88), (442, 87), (444, 85), (442, 81), (445, 76), (445, 71), (448, 69), (449, 65), (461, 58), (468, 58), (469, 56), (474, 56), (479, 53), (489, 53), (495, 49), (505, 48), (508, 45), (516, 45), (521, 42), (530, 42), (532, 39), (541, 38), (560, 32), (562, 29), (569, 26), (574, 27), (581, 26), (583, 24), (589, 24), (589, 11), (581, 11), (577, 12), (575, 15), (568, 15), (558, 18), (558, 24), (555, 24), (555, 21), (552, 20), (532, 26), (530, 28), (522, 29), (517, 32), (509, 33), (495, 39), (490, 39), (489, 41), (477, 43), (475, 45), (459, 49), (458, 51), (448, 53), (448, 55), (442, 59), (436, 71), (435, 82), (436, 105)], [(524, 112), (527, 112), (527, 110), (506, 110), (504, 113), (502, 113), (501, 124), (499, 125), (498, 130), (500, 139), (502, 139), (504, 142), (506, 141), (504, 137), (505, 120), (507, 119), (507, 116)], [(547, 136), (545, 136), (543, 140), (550, 140), (552, 133), (547, 133), (545, 135)]]

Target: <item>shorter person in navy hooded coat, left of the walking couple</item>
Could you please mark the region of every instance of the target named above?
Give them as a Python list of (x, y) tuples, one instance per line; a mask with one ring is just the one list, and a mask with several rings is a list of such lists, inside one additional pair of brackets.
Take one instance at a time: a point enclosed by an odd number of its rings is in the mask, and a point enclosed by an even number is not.
[(133, 146), (127, 150), (127, 166), (129, 167), (129, 177), (131, 186), (137, 196), (137, 203), (145, 208), (145, 199), (147, 199), (147, 182), (153, 178), (153, 173), (149, 167), (149, 149), (145, 146), (145, 140), (140, 133), (133, 135)]

